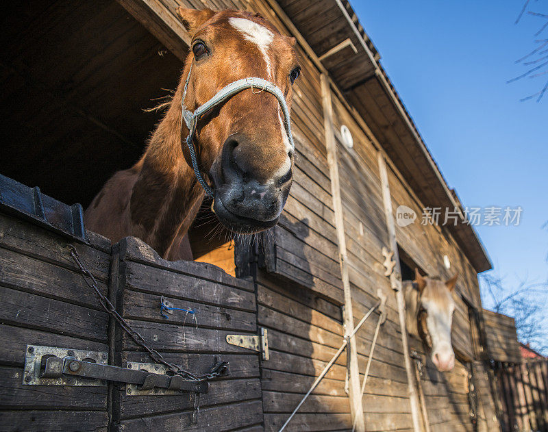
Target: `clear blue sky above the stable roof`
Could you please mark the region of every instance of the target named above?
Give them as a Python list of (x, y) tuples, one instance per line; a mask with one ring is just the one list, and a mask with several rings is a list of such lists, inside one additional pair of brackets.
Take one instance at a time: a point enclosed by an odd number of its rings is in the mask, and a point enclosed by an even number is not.
[[(545, 21), (516, 1), (351, 1), (449, 186), (464, 205), (523, 207), (519, 227), (477, 227), (508, 286), (548, 278), (548, 75), (514, 64)], [(548, 14), (548, 1), (531, 1)], [(548, 29), (538, 38), (548, 38)], [(486, 305), (488, 306), (488, 305)]]

